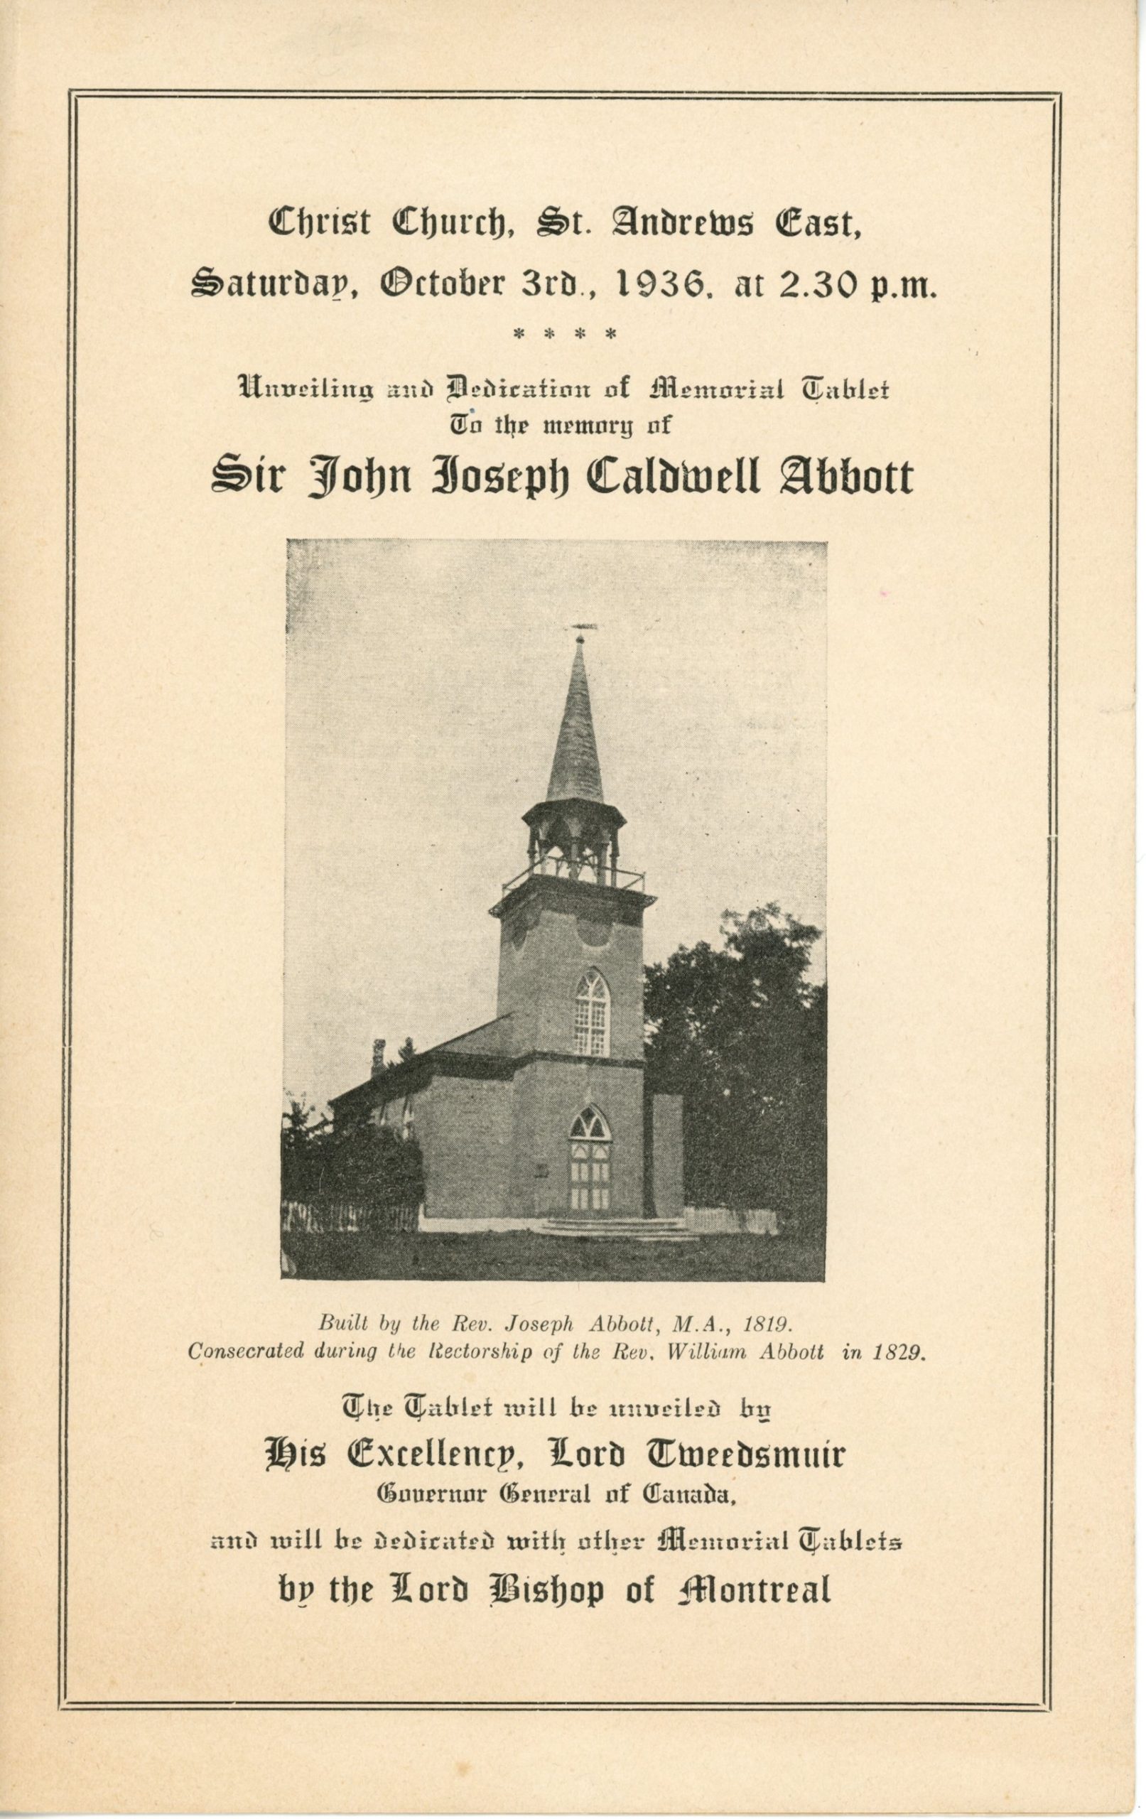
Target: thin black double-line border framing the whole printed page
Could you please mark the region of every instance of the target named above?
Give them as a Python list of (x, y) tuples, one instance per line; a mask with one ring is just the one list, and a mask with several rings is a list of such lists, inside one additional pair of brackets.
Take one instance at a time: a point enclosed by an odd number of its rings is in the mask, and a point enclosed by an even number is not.
[[(1050, 491), (1046, 680), (1046, 1246), (1042, 1353), (1042, 1688), (1039, 1699), (73, 1699), (67, 1692), (67, 1439), (71, 1239), (71, 984), (75, 933), (75, 713), (76, 713), (76, 255), (80, 215), (80, 102), (95, 100), (386, 100), (386, 102), (860, 102), (1008, 104), (1050, 109)], [(1050, 1712), (1053, 1630), (1053, 1415), (1055, 1415), (1055, 1008), (1059, 899), (1059, 340), (1062, 227), (1062, 95), (1057, 91), (759, 91), (759, 89), (69, 89), (67, 95), (67, 486), (65, 486), (65, 709), (64, 709), (64, 979), (60, 1117), (60, 1381), (56, 1697), (62, 1712)], [(1031, 304), (1033, 307), (1033, 304)]]

